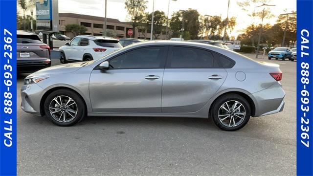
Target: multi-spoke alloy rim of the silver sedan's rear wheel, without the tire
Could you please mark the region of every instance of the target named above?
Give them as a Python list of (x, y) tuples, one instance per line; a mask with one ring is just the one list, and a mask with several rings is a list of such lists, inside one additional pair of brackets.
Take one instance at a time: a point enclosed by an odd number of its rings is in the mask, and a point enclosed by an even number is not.
[(244, 105), (236, 100), (230, 100), (222, 104), (218, 117), (220, 122), (226, 127), (236, 127), (240, 125), (246, 116)]

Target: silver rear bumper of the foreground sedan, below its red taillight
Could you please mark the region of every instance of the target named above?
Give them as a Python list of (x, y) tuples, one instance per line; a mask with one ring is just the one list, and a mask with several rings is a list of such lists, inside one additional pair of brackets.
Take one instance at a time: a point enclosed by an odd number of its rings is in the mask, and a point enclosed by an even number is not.
[(285, 91), (277, 82), (269, 88), (251, 94), (255, 99), (255, 117), (278, 113), (284, 110)]

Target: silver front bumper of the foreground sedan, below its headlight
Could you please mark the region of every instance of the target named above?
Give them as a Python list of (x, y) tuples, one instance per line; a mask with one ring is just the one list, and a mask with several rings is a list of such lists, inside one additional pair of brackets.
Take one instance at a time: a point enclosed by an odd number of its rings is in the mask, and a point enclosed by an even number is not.
[(37, 84), (24, 85), (21, 88), (21, 109), (25, 112), (40, 115), (40, 101), (44, 89)]

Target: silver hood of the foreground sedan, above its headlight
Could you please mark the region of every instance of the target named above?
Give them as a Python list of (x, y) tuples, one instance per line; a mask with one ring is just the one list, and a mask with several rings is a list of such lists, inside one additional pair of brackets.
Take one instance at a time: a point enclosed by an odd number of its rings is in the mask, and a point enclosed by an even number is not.
[(58, 66), (50, 66), (39, 71), (36, 71), (30, 76), (39, 76), (39, 75), (53, 75), (53, 74), (65, 74), (65, 73), (72, 73), (74, 71), (79, 70), (82, 68), (86, 62), (78, 62), (78, 63), (70, 63), (70, 64), (62, 64)]

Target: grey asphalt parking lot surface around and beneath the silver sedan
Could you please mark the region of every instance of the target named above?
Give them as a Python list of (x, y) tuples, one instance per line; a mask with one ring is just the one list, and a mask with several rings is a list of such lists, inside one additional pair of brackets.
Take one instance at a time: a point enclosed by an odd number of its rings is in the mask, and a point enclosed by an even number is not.
[[(168, 117), (88, 117), (58, 127), (22, 111), (18, 96), (18, 175), (295, 175), (296, 62), (268, 62), (283, 71), (285, 109), (236, 132), (210, 119)], [(26, 75), (18, 75), (18, 95)]]

